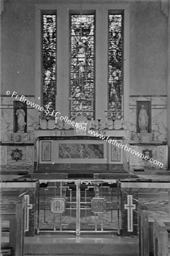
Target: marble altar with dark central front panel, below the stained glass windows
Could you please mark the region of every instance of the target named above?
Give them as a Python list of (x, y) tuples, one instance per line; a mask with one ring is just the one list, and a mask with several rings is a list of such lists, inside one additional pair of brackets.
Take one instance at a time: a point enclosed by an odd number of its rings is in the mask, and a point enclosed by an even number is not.
[[(123, 137), (111, 137), (123, 144)], [(49, 136), (37, 139), (36, 172), (113, 172), (124, 170), (123, 151), (92, 136)]]

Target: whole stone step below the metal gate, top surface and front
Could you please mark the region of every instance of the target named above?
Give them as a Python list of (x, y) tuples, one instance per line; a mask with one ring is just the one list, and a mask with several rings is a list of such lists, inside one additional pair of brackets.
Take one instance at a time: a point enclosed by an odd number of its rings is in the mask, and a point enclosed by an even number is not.
[[(61, 238), (60, 238), (61, 237)], [(82, 236), (83, 237), (83, 236)], [(54, 234), (40, 234), (35, 237), (25, 238), (24, 255), (32, 256), (137, 256), (138, 238), (113, 237), (102, 238), (102, 234), (85, 238), (62, 238)]]

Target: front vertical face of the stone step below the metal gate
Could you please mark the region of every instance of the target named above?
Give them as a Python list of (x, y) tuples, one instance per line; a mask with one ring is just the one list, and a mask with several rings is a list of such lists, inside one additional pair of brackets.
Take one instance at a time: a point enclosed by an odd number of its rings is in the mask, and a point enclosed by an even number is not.
[(25, 256), (137, 256), (138, 243), (25, 243)]

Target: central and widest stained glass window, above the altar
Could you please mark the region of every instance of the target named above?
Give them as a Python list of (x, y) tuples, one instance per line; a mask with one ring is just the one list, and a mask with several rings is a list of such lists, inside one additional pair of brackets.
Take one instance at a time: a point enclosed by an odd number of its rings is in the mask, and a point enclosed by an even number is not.
[(71, 15), (70, 115), (88, 119), (95, 111), (95, 16)]

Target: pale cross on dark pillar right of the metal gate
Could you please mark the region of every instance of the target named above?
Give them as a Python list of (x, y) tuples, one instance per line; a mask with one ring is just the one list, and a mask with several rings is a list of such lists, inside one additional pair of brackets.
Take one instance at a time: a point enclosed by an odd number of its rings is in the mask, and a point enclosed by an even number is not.
[(128, 195), (128, 204), (125, 204), (125, 209), (128, 210), (128, 232), (133, 232), (133, 210), (136, 209), (136, 205), (133, 204), (132, 195)]

